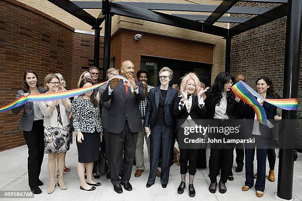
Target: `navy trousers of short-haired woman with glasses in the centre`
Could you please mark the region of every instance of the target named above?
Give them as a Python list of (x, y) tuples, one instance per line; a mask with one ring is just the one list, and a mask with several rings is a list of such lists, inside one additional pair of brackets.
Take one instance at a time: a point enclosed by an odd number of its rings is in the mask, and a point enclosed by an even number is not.
[(148, 184), (152, 185), (155, 182), (158, 159), (161, 153), (161, 174), (160, 181), (162, 184), (167, 184), (169, 181), (171, 149), (173, 146), (173, 126), (153, 126), (150, 134), (150, 174)]

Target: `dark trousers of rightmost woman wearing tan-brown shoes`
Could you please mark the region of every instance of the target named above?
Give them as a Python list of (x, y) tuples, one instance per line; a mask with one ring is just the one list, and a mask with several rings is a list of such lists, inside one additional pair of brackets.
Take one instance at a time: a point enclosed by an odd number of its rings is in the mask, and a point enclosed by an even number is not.
[[(257, 149), (257, 180), (256, 191), (264, 191), (265, 188), (265, 168), (267, 149)], [(254, 149), (245, 149), (245, 185), (254, 186)]]

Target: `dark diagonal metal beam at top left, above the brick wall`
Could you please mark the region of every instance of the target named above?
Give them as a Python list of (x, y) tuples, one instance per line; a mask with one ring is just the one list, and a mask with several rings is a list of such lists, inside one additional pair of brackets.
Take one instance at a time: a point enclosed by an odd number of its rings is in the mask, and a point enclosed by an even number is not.
[(66, 12), (72, 14), (79, 20), (87, 23), (91, 27), (95, 26), (96, 18), (90, 15), (89, 13), (87, 13), (85, 10), (81, 9), (74, 2), (70, 0), (48, 0), (48, 1), (62, 8)]

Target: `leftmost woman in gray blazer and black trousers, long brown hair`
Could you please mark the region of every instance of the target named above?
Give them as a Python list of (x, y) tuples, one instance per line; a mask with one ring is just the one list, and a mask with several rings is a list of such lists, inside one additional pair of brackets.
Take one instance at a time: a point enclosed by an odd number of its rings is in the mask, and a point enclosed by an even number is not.
[[(29, 94), (43, 94), (46, 90), (39, 87), (38, 74), (32, 70), (23, 73), (22, 89), (17, 91), (16, 99)], [(34, 194), (42, 193), (38, 186), (43, 182), (39, 179), (44, 156), (44, 127), (43, 115), (38, 107), (38, 102), (28, 102), (13, 108), (12, 113), (18, 114), (23, 109), (19, 129), (23, 130), (24, 139), (28, 147), (28, 184)]]

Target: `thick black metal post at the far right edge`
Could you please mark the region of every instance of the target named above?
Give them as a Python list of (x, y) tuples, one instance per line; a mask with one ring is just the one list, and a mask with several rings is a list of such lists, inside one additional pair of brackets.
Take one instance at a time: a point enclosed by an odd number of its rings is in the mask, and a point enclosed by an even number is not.
[[(298, 98), (300, 52), (302, 33), (302, 0), (288, 0), (285, 39), (285, 63), (283, 98)], [(297, 119), (297, 111), (282, 110), (282, 119)], [(296, 129), (290, 129), (284, 137), (287, 142), (295, 141)], [(283, 139), (279, 139), (282, 141)], [(291, 200), (293, 197), (294, 147), (280, 149), (277, 196)]]

